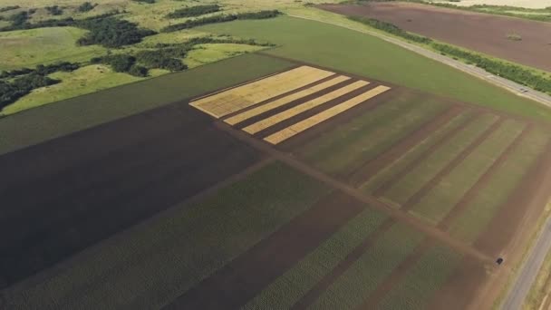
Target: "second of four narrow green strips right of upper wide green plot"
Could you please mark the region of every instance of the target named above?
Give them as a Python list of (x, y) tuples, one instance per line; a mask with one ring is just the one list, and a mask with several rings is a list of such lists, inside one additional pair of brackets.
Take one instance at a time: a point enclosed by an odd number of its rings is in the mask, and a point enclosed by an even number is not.
[(391, 189), (384, 193), (385, 201), (389, 200), (395, 203), (396, 207), (400, 207), (496, 120), (495, 115), (484, 114), (469, 123), (467, 128), (440, 145), (430, 156), (394, 183)]

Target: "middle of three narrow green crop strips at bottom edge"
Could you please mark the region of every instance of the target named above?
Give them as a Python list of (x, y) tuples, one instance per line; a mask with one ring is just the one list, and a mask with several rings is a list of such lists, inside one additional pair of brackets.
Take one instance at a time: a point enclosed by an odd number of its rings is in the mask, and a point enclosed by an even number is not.
[(320, 296), (311, 309), (355, 309), (420, 244), (422, 235), (396, 224)]

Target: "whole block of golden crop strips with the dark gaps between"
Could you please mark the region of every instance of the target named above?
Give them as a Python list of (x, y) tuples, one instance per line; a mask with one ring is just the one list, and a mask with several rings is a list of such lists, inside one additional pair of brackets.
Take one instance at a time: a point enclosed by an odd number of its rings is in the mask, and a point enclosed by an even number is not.
[(245, 123), (243, 131), (279, 144), (390, 90), (303, 65), (189, 104), (228, 125)]

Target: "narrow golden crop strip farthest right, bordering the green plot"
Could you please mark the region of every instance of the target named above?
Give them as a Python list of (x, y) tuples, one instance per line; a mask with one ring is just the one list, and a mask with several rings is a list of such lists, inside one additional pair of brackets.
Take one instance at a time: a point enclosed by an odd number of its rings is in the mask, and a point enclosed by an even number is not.
[(390, 89), (391, 88), (387, 87), (387, 86), (377, 86), (377, 87), (373, 88), (372, 90), (367, 91), (367, 92), (363, 92), (361, 95), (353, 97), (352, 99), (350, 99), (346, 102), (340, 103), (338, 105), (333, 106), (330, 109), (319, 112), (319, 113), (315, 114), (314, 116), (305, 119), (304, 121), (299, 121), (299, 122), (295, 123), (294, 125), (291, 125), (291, 126), (285, 128), (282, 131), (277, 131), (274, 134), (271, 134), (271, 135), (267, 136), (264, 140), (266, 140), (266, 141), (268, 141), (272, 144), (280, 143), (284, 140), (287, 140), (287, 139), (295, 136), (296, 134), (298, 134), (302, 131), (305, 131), (309, 128), (314, 127), (315, 125), (321, 123), (322, 121), (327, 121), (327, 120), (333, 118), (335, 115), (340, 114), (343, 111), (350, 110), (353, 107), (357, 106), (358, 104), (360, 104), (362, 102), (365, 102), (365, 101), (381, 94), (382, 92), (386, 92)]

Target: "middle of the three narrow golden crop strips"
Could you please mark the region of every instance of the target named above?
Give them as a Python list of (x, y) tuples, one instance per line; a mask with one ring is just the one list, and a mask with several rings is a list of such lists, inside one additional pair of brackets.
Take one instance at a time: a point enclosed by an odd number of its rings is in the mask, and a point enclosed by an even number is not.
[(280, 113), (277, 113), (273, 116), (268, 117), (265, 120), (257, 121), (256, 123), (247, 126), (243, 129), (243, 131), (247, 131), (250, 134), (254, 134), (258, 131), (263, 131), (268, 127), (274, 126), (276, 123), (279, 123), (281, 121), (288, 120), (295, 115), (298, 115), (304, 111), (311, 110), (317, 106), (320, 106), (324, 104), (325, 102), (330, 102), (333, 99), (337, 99), (349, 92), (353, 92), (359, 88), (362, 88), (363, 86), (368, 85), (369, 82), (366, 81), (357, 81), (353, 82), (352, 84), (346, 85), (342, 88), (339, 88), (336, 91), (329, 92), (324, 94), (323, 96), (317, 97), (309, 102), (304, 102), (302, 104), (299, 104), (291, 109), (282, 111)]

